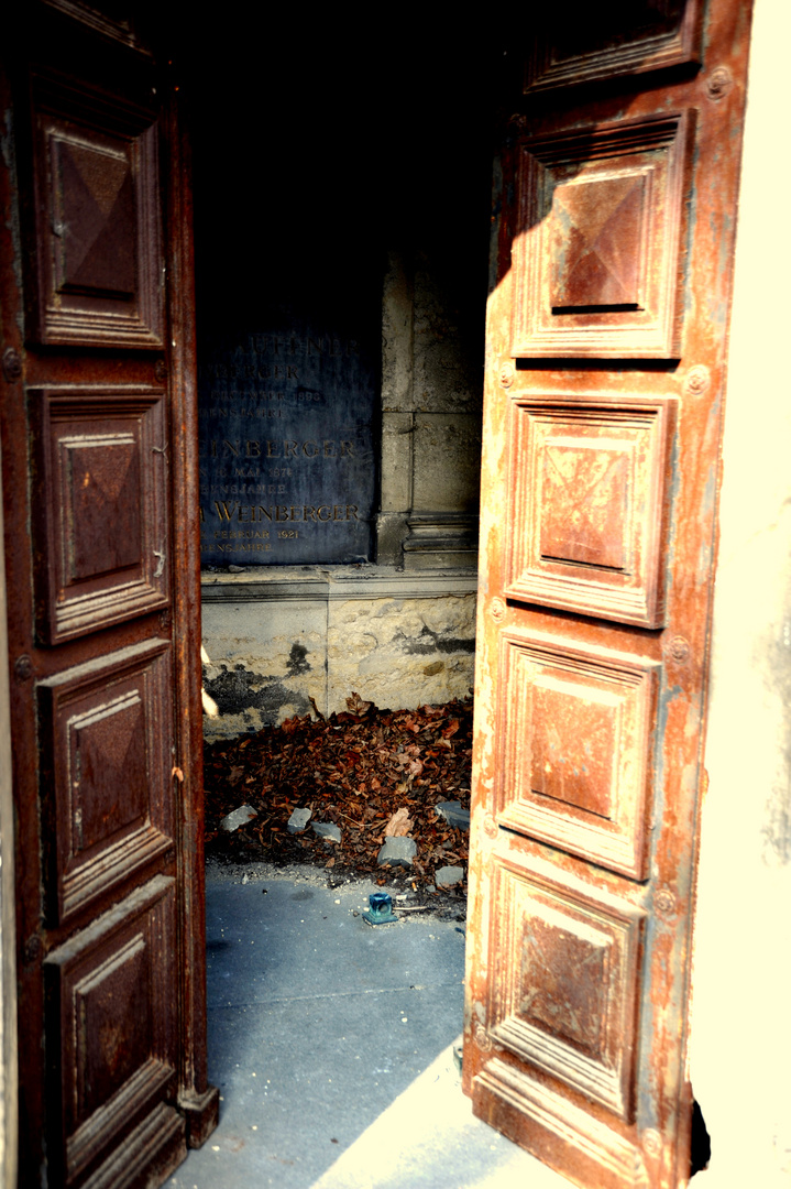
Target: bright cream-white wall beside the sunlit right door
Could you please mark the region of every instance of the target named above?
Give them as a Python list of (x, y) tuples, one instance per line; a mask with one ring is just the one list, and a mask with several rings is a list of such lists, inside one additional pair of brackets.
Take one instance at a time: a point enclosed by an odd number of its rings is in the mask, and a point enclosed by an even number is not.
[(695, 937), (700, 1189), (791, 1185), (790, 34), (787, 0), (757, 0)]

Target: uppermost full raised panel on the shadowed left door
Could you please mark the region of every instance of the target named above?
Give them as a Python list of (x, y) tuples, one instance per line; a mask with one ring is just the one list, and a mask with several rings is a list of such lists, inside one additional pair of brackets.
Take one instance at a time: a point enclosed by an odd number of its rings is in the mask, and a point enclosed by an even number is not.
[(31, 338), (163, 345), (157, 127), (148, 113), (33, 82), (36, 283)]

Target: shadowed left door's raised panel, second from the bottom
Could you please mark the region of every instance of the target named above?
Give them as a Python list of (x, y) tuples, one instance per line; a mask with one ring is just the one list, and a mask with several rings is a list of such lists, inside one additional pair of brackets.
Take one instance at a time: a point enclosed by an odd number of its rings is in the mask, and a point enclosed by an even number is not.
[(52, 916), (69, 920), (173, 845), (170, 646), (148, 641), (39, 685)]

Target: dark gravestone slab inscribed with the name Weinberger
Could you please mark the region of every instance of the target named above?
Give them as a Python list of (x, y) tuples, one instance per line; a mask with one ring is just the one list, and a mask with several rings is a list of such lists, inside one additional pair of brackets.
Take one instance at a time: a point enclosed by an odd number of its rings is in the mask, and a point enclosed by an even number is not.
[(368, 560), (378, 346), (293, 317), (198, 342), (204, 566)]

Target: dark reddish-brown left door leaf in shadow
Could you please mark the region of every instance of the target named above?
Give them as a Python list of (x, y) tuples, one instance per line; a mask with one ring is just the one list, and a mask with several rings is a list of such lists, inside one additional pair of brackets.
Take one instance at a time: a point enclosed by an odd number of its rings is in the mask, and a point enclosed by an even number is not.
[(189, 161), (120, 8), (26, 6), (1, 76), (20, 1183), (70, 1189), (159, 1183), (217, 1111)]

